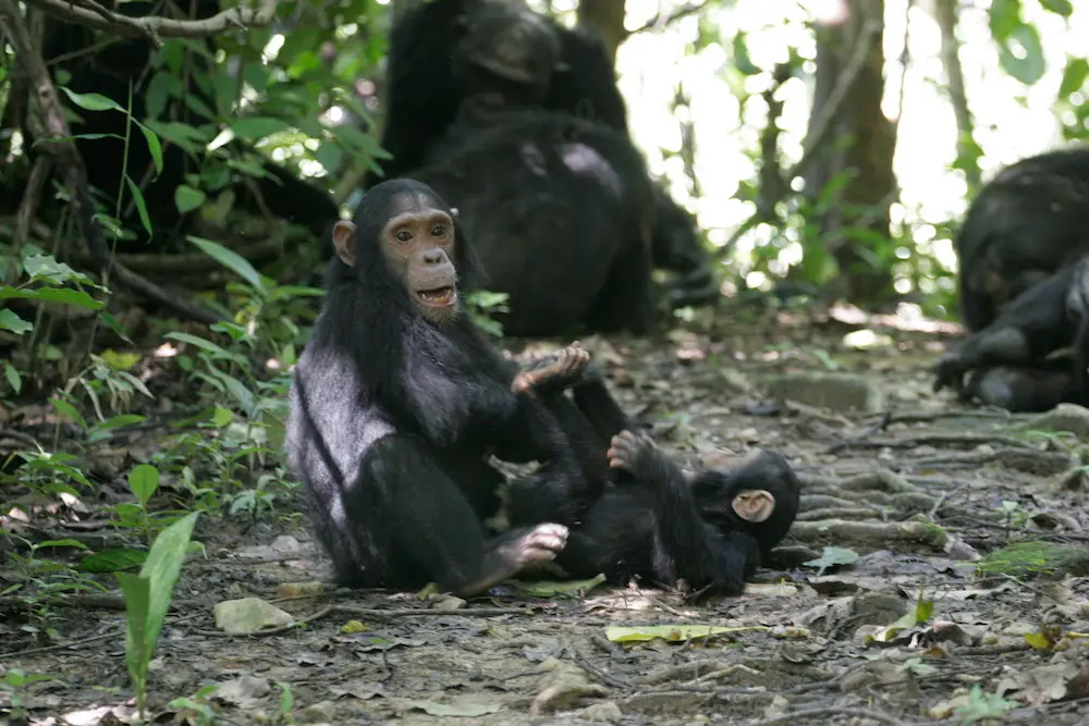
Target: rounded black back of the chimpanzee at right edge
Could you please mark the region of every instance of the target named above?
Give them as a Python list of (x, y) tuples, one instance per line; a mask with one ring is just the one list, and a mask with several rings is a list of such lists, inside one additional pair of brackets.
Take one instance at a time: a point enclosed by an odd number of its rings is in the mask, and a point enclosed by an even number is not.
[(983, 186), (956, 239), (964, 323), (1003, 306), (1089, 250), (1089, 149), (1023, 159)]

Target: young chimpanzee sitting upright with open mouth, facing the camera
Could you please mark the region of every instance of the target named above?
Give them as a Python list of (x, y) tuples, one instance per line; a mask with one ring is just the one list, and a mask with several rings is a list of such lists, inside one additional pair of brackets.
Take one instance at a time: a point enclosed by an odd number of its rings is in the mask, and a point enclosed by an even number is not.
[(473, 593), (552, 559), (563, 525), (486, 536), (503, 482), (486, 456), (537, 459), (534, 481), (583, 485), (563, 480), (584, 463), (546, 402), (570, 403), (550, 382), (574, 380), (585, 353), (519, 373), (487, 344), (461, 308), (468, 241), (425, 184), (376, 185), (333, 237), (328, 293), (295, 370), (287, 450), (337, 579)]

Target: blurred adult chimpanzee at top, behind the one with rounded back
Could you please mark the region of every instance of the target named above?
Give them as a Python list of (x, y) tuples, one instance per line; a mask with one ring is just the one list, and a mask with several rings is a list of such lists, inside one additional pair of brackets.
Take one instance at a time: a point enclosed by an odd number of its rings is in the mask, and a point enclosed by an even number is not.
[[(444, 161), (442, 150), (456, 147), (441, 139), (455, 123), (462, 101), (474, 95), (488, 97), (504, 108), (571, 113), (609, 126), (631, 140), (624, 101), (600, 40), (584, 29), (564, 28), (521, 2), (436, 0), (419, 7), (394, 27), (389, 59), (387, 123), (381, 141), (393, 155), (392, 161), (383, 162), (388, 179), (416, 173), (427, 161)], [(504, 170), (494, 165), (489, 169), (490, 183), (513, 194), (519, 192), (509, 182)], [(638, 174), (646, 176), (645, 162), (640, 162)], [(367, 183), (377, 177), (371, 174)], [(629, 183), (635, 183), (634, 176)], [(558, 194), (568, 196), (564, 190)], [(685, 275), (676, 283), (676, 291), (671, 291), (672, 304), (700, 305), (718, 299), (710, 260), (699, 244), (695, 220), (663, 189), (656, 190), (651, 205), (657, 217), (650, 231), (652, 264)], [(582, 213), (592, 214), (589, 207), (589, 202), (583, 205)], [(489, 212), (499, 213), (495, 209)], [(577, 243), (585, 244), (587, 238), (579, 237)], [(590, 239), (590, 244), (595, 242)], [(512, 258), (521, 251), (503, 249)], [(559, 256), (567, 251), (562, 237), (552, 241), (547, 250)], [(490, 262), (488, 253), (488, 249), (480, 253), (486, 267)], [(591, 249), (576, 254), (592, 253)], [(608, 256), (609, 250), (601, 254)], [(506, 266), (504, 262), (490, 267)], [(563, 278), (547, 280), (538, 287), (551, 291), (568, 287), (580, 298), (594, 294), (595, 279), (583, 282), (570, 273), (571, 269)], [(652, 305), (649, 273), (648, 270), (644, 287), (648, 291), (647, 304)], [(521, 283), (498, 275), (490, 275), (490, 281), (499, 288)], [(548, 309), (547, 302), (537, 302), (528, 295), (518, 305), (527, 308), (526, 315), (537, 317)], [(522, 312), (513, 302), (511, 309)], [(587, 322), (594, 325), (592, 321)], [(542, 334), (560, 332), (565, 330), (556, 328)]]

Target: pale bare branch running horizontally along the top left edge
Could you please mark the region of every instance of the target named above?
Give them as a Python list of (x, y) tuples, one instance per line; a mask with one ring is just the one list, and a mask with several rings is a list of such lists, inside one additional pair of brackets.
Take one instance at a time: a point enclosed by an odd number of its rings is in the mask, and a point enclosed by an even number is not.
[(206, 38), (229, 28), (255, 28), (269, 25), (276, 17), (276, 0), (261, 0), (257, 10), (232, 8), (199, 21), (179, 21), (158, 15), (129, 17), (84, 0), (77, 8), (65, 0), (26, 0), (26, 4), (69, 23), (78, 23), (96, 30), (107, 30), (125, 37), (147, 36), (161, 46), (159, 38)]

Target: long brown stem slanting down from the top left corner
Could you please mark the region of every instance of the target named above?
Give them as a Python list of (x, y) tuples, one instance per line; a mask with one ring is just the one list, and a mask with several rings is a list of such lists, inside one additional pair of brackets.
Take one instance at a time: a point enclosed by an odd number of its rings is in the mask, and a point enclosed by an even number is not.
[[(30, 4), (37, 5), (35, 2)], [(68, 5), (64, 7), (68, 8)], [(72, 10), (75, 11), (75, 9)], [(79, 151), (72, 143), (72, 132), (64, 121), (60, 100), (57, 97), (57, 88), (53, 87), (41, 53), (35, 47), (14, 0), (0, 0), (0, 29), (4, 32), (15, 48), (15, 54), (26, 70), (32, 87), (35, 89), (34, 98), (37, 100), (44, 116), (46, 133), (51, 137), (49, 143), (42, 145), (42, 149), (46, 153), (53, 156), (62, 170), (64, 184), (72, 198), (72, 211), (79, 224), (79, 231), (87, 243), (87, 248), (96, 262), (103, 268), (107, 275), (115, 275), (121, 284), (131, 291), (167, 305), (193, 320), (209, 324), (218, 322), (220, 320), (218, 315), (188, 300), (178, 299), (155, 283), (112, 260), (109, 245), (102, 235), (102, 229), (95, 219), (95, 205), (90, 199), (87, 186), (87, 168), (84, 165)]]

